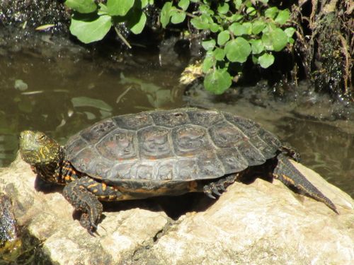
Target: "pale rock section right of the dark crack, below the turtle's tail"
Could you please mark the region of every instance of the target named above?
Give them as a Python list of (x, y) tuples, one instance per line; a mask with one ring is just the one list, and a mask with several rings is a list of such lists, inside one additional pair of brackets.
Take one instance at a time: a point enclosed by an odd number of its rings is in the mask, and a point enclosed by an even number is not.
[(235, 183), (207, 211), (184, 216), (140, 264), (353, 264), (353, 200), (312, 170), (297, 168), (340, 215), (278, 180)]

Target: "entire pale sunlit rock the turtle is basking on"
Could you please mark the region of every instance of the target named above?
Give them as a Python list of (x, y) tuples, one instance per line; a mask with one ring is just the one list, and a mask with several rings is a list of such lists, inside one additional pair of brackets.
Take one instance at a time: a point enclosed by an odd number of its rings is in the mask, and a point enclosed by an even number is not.
[[(352, 263), (353, 199), (296, 166), (329, 196), (339, 215), (276, 180), (257, 179), (232, 184), (205, 211), (176, 221), (145, 201), (105, 206), (99, 235), (92, 237), (73, 218), (60, 189), (36, 184), (20, 158), (0, 169), (0, 189), (13, 199), (18, 224), (27, 225), (42, 242), (42, 254), (56, 264)], [(208, 199), (202, 198), (195, 209), (205, 206)]]

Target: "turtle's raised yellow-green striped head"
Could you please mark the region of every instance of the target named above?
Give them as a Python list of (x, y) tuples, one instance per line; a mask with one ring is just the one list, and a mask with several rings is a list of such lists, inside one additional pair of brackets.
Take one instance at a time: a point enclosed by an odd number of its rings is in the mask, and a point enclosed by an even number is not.
[(20, 134), (20, 153), (30, 165), (58, 163), (61, 159), (59, 143), (41, 131), (22, 131)]

